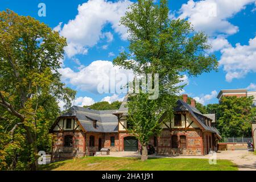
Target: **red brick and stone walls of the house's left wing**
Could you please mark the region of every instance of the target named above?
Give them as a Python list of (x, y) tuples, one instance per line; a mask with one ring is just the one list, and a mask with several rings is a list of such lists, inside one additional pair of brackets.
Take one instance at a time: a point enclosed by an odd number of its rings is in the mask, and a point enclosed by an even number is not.
[[(109, 148), (112, 152), (123, 151), (124, 138), (131, 136), (128, 133), (84, 133), (82, 131), (76, 131), (75, 133), (72, 131), (64, 131), (63, 133), (56, 132), (54, 134), (56, 136), (56, 142), (53, 144), (53, 160), (65, 160), (85, 155), (95, 155), (96, 152), (100, 151), (100, 148), (104, 147)], [(64, 138), (66, 135), (72, 136), (72, 147), (64, 146)], [(90, 143), (90, 137), (94, 138), (94, 142)], [(111, 137), (114, 137), (114, 146), (111, 146)]]

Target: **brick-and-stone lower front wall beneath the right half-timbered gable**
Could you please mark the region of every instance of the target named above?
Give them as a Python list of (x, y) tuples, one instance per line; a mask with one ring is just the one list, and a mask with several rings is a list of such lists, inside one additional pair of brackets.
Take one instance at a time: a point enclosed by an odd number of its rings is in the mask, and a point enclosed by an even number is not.
[[(172, 147), (171, 137), (177, 135), (178, 147)], [(186, 148), (181, 148), (180, 136), (186, 137)], [(163, 130), (158, 137), (158, 155), (203, 155), (203, 140), (200, 130)]]

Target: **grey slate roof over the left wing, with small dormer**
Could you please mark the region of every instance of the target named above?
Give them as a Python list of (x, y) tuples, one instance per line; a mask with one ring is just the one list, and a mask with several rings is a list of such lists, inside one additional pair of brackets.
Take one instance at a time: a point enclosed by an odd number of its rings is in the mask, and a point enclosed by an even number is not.
[[(117, 110), (93, 110), (85, 107), (72, 106), (60, 117), (75, 116), (86, 131), (115, 133), (118, 132), (118, 119), (113, 115)], [(97, 127), (93, 127), (93, 121)]]

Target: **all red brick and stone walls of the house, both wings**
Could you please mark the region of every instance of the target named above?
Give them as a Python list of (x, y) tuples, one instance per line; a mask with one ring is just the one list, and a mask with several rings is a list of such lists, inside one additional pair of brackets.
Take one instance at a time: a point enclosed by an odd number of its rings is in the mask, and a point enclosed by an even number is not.
[[(83, 133), (64, 132), (55, 133), (56, 143), (53, 145), (53, 159), (64, 160), (85, 155), (94, 155), (100, 148), (110, 148), (110, 151), (124, 151), (124, 139), (129, 137), (128, 133)], [(73, 137), (72, 147), (64, 146), (65, 135)], [(173, 147), (172, 136), (177, 136), (177, 147)], [(94, 137), (94, 143), (90, 143), (90, 137)], [(181, 147), (181, 136), (183, 147)], [(114, 137), (114, 146), (111, 146), (110, 137)], [(101, 142), (99, 140), (101, 139)], [(86, 142), (85, 142), (86, 141)], [(101, 146), (99, 144), (101, 143)], [(214, 135), (203, 133), (200, 129), (193, 130), (162, 130), (159, 137), (151, 137), (150, 142), (155, 147), (158, 155), (205, 155), (210, 150), (216, 150), (214, 146)], [(138, 148), (140, 144), (138, 143)]]

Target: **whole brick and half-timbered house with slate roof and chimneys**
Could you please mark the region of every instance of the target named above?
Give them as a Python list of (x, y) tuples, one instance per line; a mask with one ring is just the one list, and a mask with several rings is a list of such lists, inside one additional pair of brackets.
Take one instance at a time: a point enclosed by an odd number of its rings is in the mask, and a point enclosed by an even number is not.
[[(138, 151), (138, 140), (127, 133), (127, 96), (118, 110), (98, 111), (73, 106), (53, 124), (55, 134), (53, 159), (63, 160), (94, 155), (102, 147), (114, 151)], [(159, 137), (151, 137), (149, 144), (159, 155), (205, 155), (217, 150), (220, 139), (212, 123), (215, 115), (203, 115), (195, 107), (195, 100), (187, 104), (187, 95), (177, 101), (175, 118), (162, 125)]]

